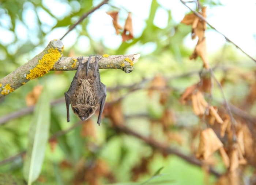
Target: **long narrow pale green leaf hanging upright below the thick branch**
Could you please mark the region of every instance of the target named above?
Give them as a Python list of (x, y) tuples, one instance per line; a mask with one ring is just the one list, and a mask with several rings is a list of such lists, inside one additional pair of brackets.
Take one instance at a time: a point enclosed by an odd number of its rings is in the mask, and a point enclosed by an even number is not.
[(50, 103), (46, 87), (44, 87), (35, 106), (34, 117), (29, 130), (29, 143), (23, 168), (23, 176), (28, 185), (31, 185), (41, 172), (48, 141), (49, 126)]

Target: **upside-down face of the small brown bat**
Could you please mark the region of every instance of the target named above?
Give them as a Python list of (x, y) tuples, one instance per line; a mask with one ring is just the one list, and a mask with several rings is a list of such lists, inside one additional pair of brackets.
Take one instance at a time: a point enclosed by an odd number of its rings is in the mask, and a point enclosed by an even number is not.
[(86, 119), (90, 118), (98, 108), (98, 105), (95, 106), (86, 106), (77, 104), (75, 106), (71, 106), (74, 113), (82, 120), (85, 121)]

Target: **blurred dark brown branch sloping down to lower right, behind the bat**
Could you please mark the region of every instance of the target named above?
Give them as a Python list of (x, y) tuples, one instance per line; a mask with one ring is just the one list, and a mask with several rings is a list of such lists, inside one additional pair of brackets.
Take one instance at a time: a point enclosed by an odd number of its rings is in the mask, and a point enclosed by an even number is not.
[[(118, 131), (121, 131), (121, 132), (125, 133), (125, 134), (137, 137), (137, 138), (141, 139), (142, 141), (144, 141), (145, 143), (147, 143), (148, 145), (150, 145), (150, 146), (154, 147), (155, 149), (158, 149), (158, 150), (160, 150), (164, 153), (176, 155), (176, 156), (184, 159), (185, 161), (187, 161), (191, 164), (197, 165), (197, 166), (203, 166), (204, 165), (203, 162), (199, 161), (197, 158), (195, 158), (193, 156), (187, 156), (187, 155), (181, 153), (180, 151), (178, 151), (177, 149), (168, 147), (165, 144), (162, 144), (158, 141), (155, 141), (153, 138), (145, 137), (143, 135), (140, 135), (139, 133), (129, 129), (128, 127), (116, 126), (116, 129)], [(211, 172), (212, 174), (214, 174), (217, 177), (220, 177), (222, 175), (221, 173), (217, 172), (213, 168), (209, 168), (209, 172)]]

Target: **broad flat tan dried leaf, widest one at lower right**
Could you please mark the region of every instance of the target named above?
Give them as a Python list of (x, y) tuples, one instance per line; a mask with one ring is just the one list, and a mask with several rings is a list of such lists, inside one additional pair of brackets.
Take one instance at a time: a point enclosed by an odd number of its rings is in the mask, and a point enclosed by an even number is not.
[(205, 129), (200, 134), (200, 143), (196, 157), (206, 160), (221, 147), (223, 147), (223, 143), (219, 140), (214, 131), (211, 128)]

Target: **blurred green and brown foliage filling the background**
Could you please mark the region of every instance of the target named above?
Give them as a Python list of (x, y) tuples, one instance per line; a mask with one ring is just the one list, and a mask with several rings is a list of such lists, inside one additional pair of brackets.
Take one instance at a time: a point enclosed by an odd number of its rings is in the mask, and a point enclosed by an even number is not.
[[(83, 13), (100, 3), (98, 0), (53, 2), (56, 3), (55, 8), (63, 9), (61, 14), (50, 8), (49, 1), (0, 1), (0, 78), (41, 52), (53, 32), (60, 32), (57, 35), (61, 38)], [(220, 5), (218, 1), (200, 2), (210, 7)], [(111, 0), (109, 4), (105, 5), (106, 11), (116, 10)], [(121, 11), (125, 9), (122, 8)], [(154, 24), (158, 8), (163, 8), (168, 15), (165, 28)], [(125, 20), (127, 14), (122, 13), (120, 20)], [(103, 40), (95, 41), (91, 38), (88, 31), (91, 21), (89, 16), (75, 28), (76, 39), (63, 40), (64, 45), (70, 41), (64, 49), (65, 56), (94, 53), (122, 55), (131, 51), (141, 51), (142, 56), (130, 74), (121, 70), (101, 70), (101, 80), (108, 91), (100, 127), (96, 123), (98, 113), (85, 122), (71, 113), (71, 123), (67, 123), (64, 99), (51, 107), (50, 139), (36, 183), (132, 185), (144, 182), (200, 185), (216, 182), (218, 177), (209, 174), (205, 166), (200, 168), (190, 164), (180, 156), (159, 150), (135, 134), (125, 134), (124, 130), (120, 130), (125, 125), (142, 136), (177, 147), (188, 157), (195, 156), (200, 131), (209, 125), (205, 123), (207, 121), (202, 121), (202, 117), (193, 114), (191, 102), (182, 105), (179, 101), (187, 87), (202, 79), (199, 76), (203, 67), (202, 60), (189, 60), (193, 50), (184, 42), (191, 33), (191, 27), (174, 22), (171, 10), (162, 7), (157, 0), (152, 0), (150, 13), (144, 20), (145, 26), (140, 28), (141, 34), (113, 49), (106, 46)], [(96, 24), (101, 24), (102, 35), (105, 34), (104, 26), (112, 27), (111, 19), (108, 23)], [(121, 38), (121, 35), (115, 37)], [(80, 40), (86, 40), (87, 43), (83, 43), (86, 48)], [(239, 54), (230, 43), (210, 53), (208, 59), (222, 84), (227, 101), (255, 116), (255, 65)], [(63, 98), (74, 74), (74, 71), (54, 71), (31, 80), (0, 99), (0, 117), (25, 109), (27, 95), (40, 84), (47, 84), (47, 99), (54, 101)], [(221, 107), (225, 112), (223, 97), (216, 85), (211, 95), (206, 93), (212, 105)], [(33, 114), (29, 113), (1, 123), (0, 173), (4, 174), (1, 177), (12, 174), (15, 178), (23, 178), (25, 156), (16, 157), (5, 164), (1, 164), (1, 161), (27, 149), (32, 119)], [(242, 122), (240, 119), (238, 121)], [(222, 138), (223, 143), (227, 142), (225, 139)], [(214, 154), (214, 157), (210, 164), (224, 173), (226, 168), (221, 157), (218, 154)], [(244, 176), (255, 177), (252, 175), (255, 164), (249, 164), (251, 168), (249, 165), (243, 166)]]

